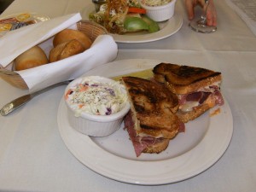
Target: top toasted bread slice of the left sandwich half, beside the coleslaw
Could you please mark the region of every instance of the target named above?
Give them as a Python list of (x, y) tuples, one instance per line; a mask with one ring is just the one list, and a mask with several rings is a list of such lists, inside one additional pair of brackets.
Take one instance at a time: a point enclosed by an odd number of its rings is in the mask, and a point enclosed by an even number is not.
[(179, 119), (177, 96), (162, 84), (148, 79), (123, 77), (129, 93), (137, 135), (172, 138), (177, 135)]

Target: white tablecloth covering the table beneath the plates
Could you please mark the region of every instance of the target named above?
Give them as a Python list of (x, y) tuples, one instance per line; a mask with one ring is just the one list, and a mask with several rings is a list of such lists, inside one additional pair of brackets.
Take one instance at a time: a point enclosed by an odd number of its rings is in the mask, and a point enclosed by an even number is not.
[[(77, 12), (83, 16), (88, 4), (89, 0), (15, 0), (1, 16), (24, 12), (50, 18)], [(61, 86), (0, 117), (0, 191), (255, 191), (256, 37), (224, 1), (215, 4), (217, 32), (191, 31), (184, 2), (177, 1), (176, 14), (183, 17), (177, 33), (150, 43), (118, 44), (116, 61), (155, 59), (221, 72), (221, 89), (230, 104), (234, 132), (220, 160), (195, 177), (165, 185), (141, 186), (102, 177), (80, 163), (61, 139), (57, 125), (65, 89)], [(3, 79), (0, 91), (0, 106), (27, 93)]]

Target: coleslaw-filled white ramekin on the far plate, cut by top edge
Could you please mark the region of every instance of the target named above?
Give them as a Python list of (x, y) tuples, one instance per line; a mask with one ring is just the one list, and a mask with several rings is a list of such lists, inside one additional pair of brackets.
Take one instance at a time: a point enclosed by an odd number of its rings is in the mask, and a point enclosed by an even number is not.
[(172, 18), (176, 0), (139, 0), (139, 3), (146, 9), (149, 18), (160, 22)]

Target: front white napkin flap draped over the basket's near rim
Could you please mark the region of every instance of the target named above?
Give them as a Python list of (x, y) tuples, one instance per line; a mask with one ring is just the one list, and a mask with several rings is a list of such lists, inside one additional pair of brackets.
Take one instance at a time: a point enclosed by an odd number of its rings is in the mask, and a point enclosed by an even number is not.
[(90, 49), (79, 55), (17, 73), (26, 81), (29, 90), (33, 92), (64, 80), (76, 79), (94, 67), (113, 61), (117, 52), (117, 44), (112, 36), (100, 35)]

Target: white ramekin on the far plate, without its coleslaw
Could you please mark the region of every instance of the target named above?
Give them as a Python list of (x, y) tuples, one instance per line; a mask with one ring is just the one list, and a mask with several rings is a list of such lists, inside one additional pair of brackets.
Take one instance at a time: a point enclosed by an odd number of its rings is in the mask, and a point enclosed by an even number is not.
[(170, 3), (159, 6), (148, 6), (143, 4), (143, 0), (139, 0), (139, 2), (143, 9), (146, 9), (146, 15), (156, 22), (169, 20), (174, 15), (176, 0), (172, 0)]

